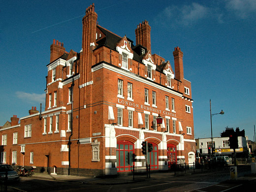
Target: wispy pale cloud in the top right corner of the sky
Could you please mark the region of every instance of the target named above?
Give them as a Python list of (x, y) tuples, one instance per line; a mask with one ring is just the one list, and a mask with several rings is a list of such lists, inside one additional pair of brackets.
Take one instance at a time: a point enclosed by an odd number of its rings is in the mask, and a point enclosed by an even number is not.
[(256, 0), (228, 0), (226, 8), (244, 19), (252, 13), (256, 13)]

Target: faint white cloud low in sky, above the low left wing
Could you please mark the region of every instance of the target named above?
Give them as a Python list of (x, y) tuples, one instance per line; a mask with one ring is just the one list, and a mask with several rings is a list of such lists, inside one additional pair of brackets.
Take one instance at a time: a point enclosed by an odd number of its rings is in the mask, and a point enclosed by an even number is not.
[(45, 94), (35, 94), (35, 93), (25, 93), (25, 92), (16, 92), (16, 96), (28, 103), (44, 103)]

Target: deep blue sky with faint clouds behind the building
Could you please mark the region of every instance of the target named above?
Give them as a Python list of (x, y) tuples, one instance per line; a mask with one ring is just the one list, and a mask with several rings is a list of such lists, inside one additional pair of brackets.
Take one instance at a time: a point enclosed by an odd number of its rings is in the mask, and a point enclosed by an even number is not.
[(82, 18), (95, 3), (100, 26), (135, 42), (144, 20), (151, 26), (152, 54), (170, 61), (174, 47), (184, 53), (184, 77), (192, 82), (195, 138), (225, 127), (256, 124), (256, 0), (1, 0), (0, 126), (10, 117), (39, 109), (53, 39), (66, 51), (82, 46)]

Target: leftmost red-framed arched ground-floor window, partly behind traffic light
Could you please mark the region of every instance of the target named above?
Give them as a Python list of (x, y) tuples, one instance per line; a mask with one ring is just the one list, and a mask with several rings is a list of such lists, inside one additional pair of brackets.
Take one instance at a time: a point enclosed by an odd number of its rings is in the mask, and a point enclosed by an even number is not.
[(130, 171), (133, 166), (134, 144), (129, 141), (117, 142), (117, 171)]

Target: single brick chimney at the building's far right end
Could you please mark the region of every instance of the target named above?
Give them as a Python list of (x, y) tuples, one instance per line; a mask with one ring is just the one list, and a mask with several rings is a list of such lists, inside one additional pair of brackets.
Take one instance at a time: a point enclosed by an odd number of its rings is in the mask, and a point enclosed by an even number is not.
[(175, 47), (173, 51), (174, 57), (174, 69), (175, 69), (175, 78), (183, 81), (184, 79), (184, 70), (183, 70), (183, 52), (181, 48)]

